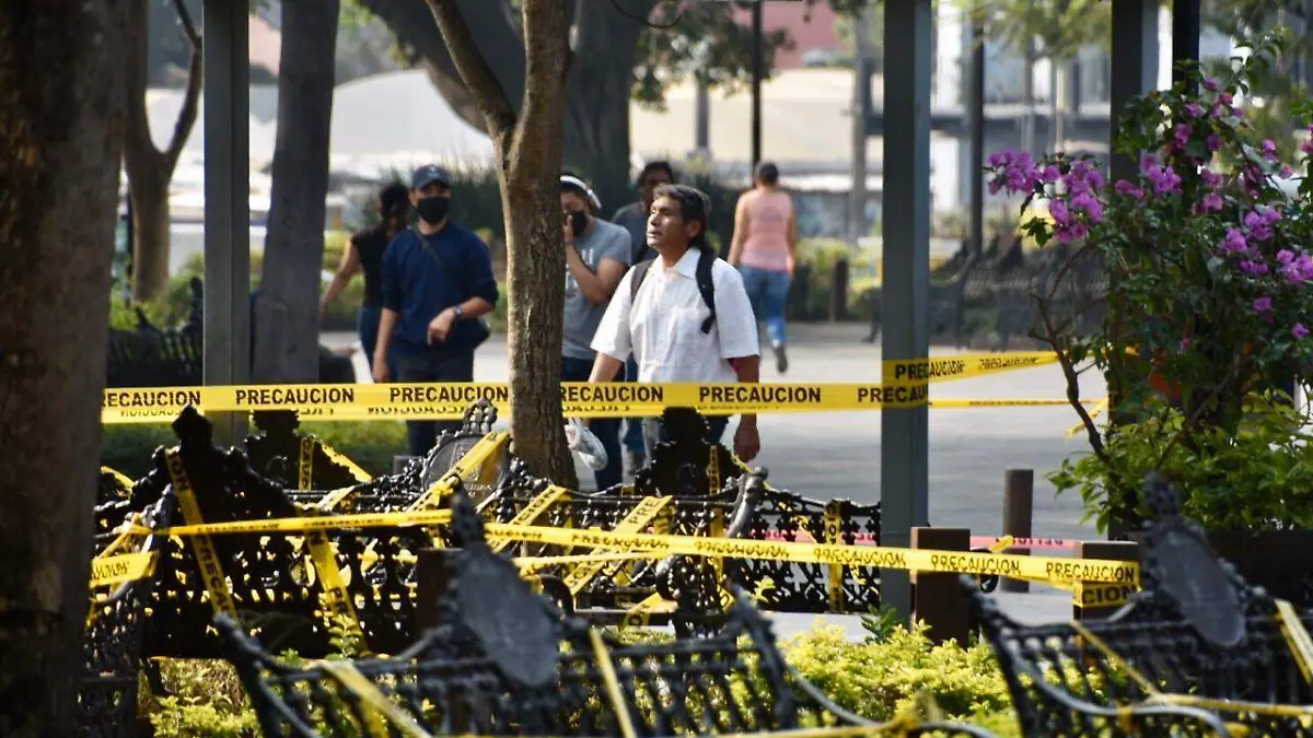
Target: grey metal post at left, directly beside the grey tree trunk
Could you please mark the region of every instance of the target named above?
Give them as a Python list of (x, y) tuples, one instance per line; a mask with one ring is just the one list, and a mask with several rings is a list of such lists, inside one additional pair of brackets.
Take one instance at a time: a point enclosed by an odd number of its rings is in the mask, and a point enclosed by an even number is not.
[[(206, 385), (251, 376), (251, 72), (246, 3), (205, 3)], [(209, 414), (215, 440), (246, 435), (246, 415)]]

